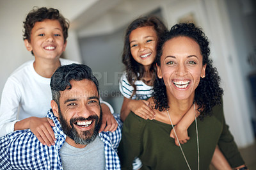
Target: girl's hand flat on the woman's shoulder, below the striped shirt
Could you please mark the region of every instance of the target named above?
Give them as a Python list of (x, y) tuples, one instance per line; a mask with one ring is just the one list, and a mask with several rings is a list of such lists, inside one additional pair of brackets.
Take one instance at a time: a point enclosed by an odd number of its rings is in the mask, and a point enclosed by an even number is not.
[(150, 102), (147, 100), (134, 100), (131, 111), (145, 120), (153, 120), (156, 117), (156, 113), (150, 107)]

